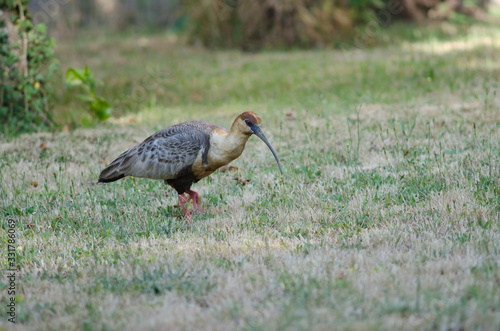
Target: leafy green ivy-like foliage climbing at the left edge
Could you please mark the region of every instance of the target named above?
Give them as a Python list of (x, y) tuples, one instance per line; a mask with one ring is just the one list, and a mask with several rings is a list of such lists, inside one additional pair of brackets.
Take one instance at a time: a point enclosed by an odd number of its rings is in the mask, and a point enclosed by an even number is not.
[(27, 3), (0, 2), (0, 132), (8, 136), (53, 126), (55, 41), (43, 24), (33, 26)]

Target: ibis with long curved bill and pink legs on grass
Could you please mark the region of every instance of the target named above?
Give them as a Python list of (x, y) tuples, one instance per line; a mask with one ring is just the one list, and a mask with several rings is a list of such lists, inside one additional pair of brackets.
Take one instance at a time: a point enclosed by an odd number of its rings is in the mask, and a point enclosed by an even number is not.
[(114, 182), (127, 176), (162, 179), (177, 191), (179, 203), (191, 223), (186, 203), (192, 201), (194, 211), (203, 213), (200, 197), (191, 190), (191, 185), (239, 157), (252, 134), (269, 147), (283, 173), (278, 155), (260, 123), (261, 118), (248, 111), (236, 117), (229, 132), (202, 121), (173, 125), (123, 152), (101, 172), (99, 182)]

